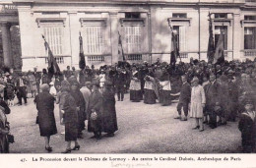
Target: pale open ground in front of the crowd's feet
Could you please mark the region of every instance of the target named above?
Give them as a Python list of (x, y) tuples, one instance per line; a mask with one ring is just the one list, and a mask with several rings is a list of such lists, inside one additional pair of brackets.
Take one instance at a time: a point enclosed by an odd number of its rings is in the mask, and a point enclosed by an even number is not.
[[(11, 153), (45, 153), (43, 138), (39, 136), (35, 124), (36, 109), (29, 99), (28, 105), (11, 107), (8, 120), (15, 143), (10, 144)], [(116, 102), (119, 130), (113, 138), (92, 140), (92, 133), (84, 132), (80, 139), (80, 150), (72, 153), (234, 153), (240, 151), (240, 132), (237, 122), (204, 132), (192, 130), (195, 121), (173, 119), (176, 103), (161, 106), (159, 103), (147, 105), (143, 102), (130, 102), (129, 94), (124, 101)], [(51, 137), (53, 153), (60, 153), (66, 147), (64, 131), (59, 124), (58, 105), (55, 105), (55, 119), (58, 134)], [(74, 145), (74, 144), (73, 144)]]

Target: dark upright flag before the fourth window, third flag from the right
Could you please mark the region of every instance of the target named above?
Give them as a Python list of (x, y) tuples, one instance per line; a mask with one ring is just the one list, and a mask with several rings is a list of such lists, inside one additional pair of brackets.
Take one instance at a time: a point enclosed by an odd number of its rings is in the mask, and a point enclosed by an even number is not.
[[(171, 28), (171, 52), (170, 52), (170, 65), (173, 67), (176, 64), (177, 57), (179, 57), (179, 49), (176, 41), (176, 35)], [(180, 60), (181, 61), (181, 60)]]

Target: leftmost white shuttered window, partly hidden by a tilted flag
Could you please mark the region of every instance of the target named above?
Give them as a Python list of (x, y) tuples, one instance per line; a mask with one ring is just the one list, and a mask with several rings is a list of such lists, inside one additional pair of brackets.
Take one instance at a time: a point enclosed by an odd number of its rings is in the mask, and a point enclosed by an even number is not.
[(44, 36), (54, 55), (63, 54), (63, 26), (44, 26)]

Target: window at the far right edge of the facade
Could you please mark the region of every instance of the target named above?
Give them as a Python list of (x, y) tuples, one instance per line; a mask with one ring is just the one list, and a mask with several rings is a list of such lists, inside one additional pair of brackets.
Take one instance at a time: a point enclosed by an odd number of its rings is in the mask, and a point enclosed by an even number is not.
[(244, 28), (244, 49), (256, 49), (256, 27)]

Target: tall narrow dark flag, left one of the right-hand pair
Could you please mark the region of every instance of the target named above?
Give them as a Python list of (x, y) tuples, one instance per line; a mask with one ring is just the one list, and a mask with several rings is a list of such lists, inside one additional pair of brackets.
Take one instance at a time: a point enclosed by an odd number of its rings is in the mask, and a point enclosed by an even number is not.
[(215, 42), (214, 42), (214, 32), (213, 32), (213, 23), (211, 14), (209, 13), (209, 41), (208, 41), (208, 50), (207, 58), (209, 63), (213, 63), (215, 55)]

